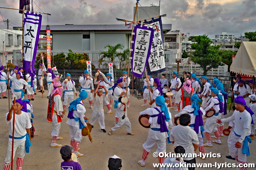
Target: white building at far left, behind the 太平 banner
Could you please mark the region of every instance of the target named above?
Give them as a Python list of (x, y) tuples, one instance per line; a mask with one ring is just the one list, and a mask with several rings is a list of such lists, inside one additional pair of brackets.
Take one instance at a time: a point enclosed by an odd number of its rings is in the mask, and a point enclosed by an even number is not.
[[(7, 62), (13, 62), (13, 50), (22, 49), (22, 31), (20, 30), (10, 30), (10, 29), (0, 29), (0, 39), (4, 41), (4, 51), (8, 51)], [(3, 41), (0, 42), (0, 59), (3, 60)], [(17, 55), (17, 60), (22, 59), (21, 55)], [(6, 65), (5, 58), (3, 65)]]

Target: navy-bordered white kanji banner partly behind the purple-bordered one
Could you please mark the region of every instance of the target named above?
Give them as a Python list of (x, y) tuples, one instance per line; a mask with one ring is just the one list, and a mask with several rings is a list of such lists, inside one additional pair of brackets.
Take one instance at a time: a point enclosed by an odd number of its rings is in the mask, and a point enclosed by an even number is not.
[(144, 23), (156, 26), (154, 30), (151, 52), (147, 64), (147, 72), (149, 75), (157, 74), (166, 70), (164, 61), (164, 36), (162, 28), (162, 19), (161, 17), (157, 19), (152, 18), (152, 20), (150, 21), (145, 20)]

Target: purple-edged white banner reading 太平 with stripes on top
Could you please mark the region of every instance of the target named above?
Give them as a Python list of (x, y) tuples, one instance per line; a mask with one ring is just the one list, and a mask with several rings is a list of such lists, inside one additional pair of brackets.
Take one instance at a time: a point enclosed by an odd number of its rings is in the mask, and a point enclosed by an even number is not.
[[(31, 13), (30, 11), (25, 13), (24, 17), (24, 60), (23, 69), (28, 72), (31, 62), (31, 50), (32, 50), (32, 70), (34, 69), (36, 60), (36, 50), (39, 41), (40, 29), (41, 29), (42, 15), (39, 13)], [(31, 47), (32, 39), (32, 47)], [(32, 48), (32, 49), (31, 49)]]

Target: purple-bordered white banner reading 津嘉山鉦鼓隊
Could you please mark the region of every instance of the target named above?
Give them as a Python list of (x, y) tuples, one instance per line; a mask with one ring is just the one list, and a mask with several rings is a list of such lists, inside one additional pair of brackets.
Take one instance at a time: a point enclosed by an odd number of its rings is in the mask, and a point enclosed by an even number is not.
[(154, 29), (148, 26), (136, 25), (132, 39), (132, 74), (142, 78), (153, 41)]

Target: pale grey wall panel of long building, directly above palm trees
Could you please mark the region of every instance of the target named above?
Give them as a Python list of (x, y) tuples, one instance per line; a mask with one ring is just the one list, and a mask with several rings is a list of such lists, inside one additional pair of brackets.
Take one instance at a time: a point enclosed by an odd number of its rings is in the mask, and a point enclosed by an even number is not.
[(95, 33), (95, 50), (107, 50), (105, 49), (106, 44), (116, 45), (121, 43), (124, 45), (124, 48), (128, 48), (128, 36), (125, 33), (120, 34), (104, 34), (104, 33)]

